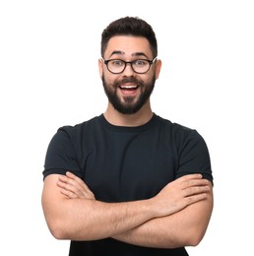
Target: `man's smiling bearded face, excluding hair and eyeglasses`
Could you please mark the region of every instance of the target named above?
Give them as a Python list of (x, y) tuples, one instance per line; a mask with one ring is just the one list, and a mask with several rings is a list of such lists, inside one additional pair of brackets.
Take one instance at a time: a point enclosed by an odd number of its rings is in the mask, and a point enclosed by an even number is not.
[[(108, 41), (104, 60), (119, 59), (133, 61), (137, 59), (153, 60), (149, 41), (144, 37), (119, 35)], [(151, 96), (159, 73), (156, 63), (145, 74), (133, 71), (130, 64), (120, 74), (112, 74), (101, 60), (100, 76), (109, 102), (121, 113), (136, 113)]]

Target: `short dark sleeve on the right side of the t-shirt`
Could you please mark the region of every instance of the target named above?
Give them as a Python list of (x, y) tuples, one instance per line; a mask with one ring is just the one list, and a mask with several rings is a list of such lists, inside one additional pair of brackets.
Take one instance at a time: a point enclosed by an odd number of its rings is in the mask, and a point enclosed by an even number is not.
[(190, 173), (201, 173), (213, 183), (209, 150), (205, 140), (196, 130), (184, 136), (178, 148), (177, 177)]

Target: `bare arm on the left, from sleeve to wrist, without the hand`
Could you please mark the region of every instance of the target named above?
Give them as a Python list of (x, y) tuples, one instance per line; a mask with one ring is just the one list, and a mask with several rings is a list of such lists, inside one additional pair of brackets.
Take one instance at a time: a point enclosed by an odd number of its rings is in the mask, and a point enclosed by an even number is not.
[(58, 239), (101, 239), (154, 218), (149, 200), (109, 204), (90, 199), (67, 199), (57, 188), (55, 190), (44, 190), (42, 206), (48, 227)]

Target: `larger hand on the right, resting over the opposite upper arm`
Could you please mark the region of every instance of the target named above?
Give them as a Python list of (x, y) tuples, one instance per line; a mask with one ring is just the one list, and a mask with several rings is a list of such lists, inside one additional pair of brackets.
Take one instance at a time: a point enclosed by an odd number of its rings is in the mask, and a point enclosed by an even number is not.
[(209, 190), (209, 181), (201, 174), (188, 174), (168, 183), (152, 201), (156, 204), (157, 214), (162, 217), (206, 199)]

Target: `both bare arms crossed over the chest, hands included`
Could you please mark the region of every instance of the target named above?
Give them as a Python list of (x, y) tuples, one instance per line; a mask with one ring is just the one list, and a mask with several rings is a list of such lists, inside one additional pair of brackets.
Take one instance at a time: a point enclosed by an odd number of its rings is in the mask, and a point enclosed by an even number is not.
[(201, 174), (189, 174), (151, 199), (104, 203), (71, 172), (50, 174), (44, 180), (42, 208), (57, 239), (112, 237), (149, 247), (195, 246), (211, 218), (213, 187)]

